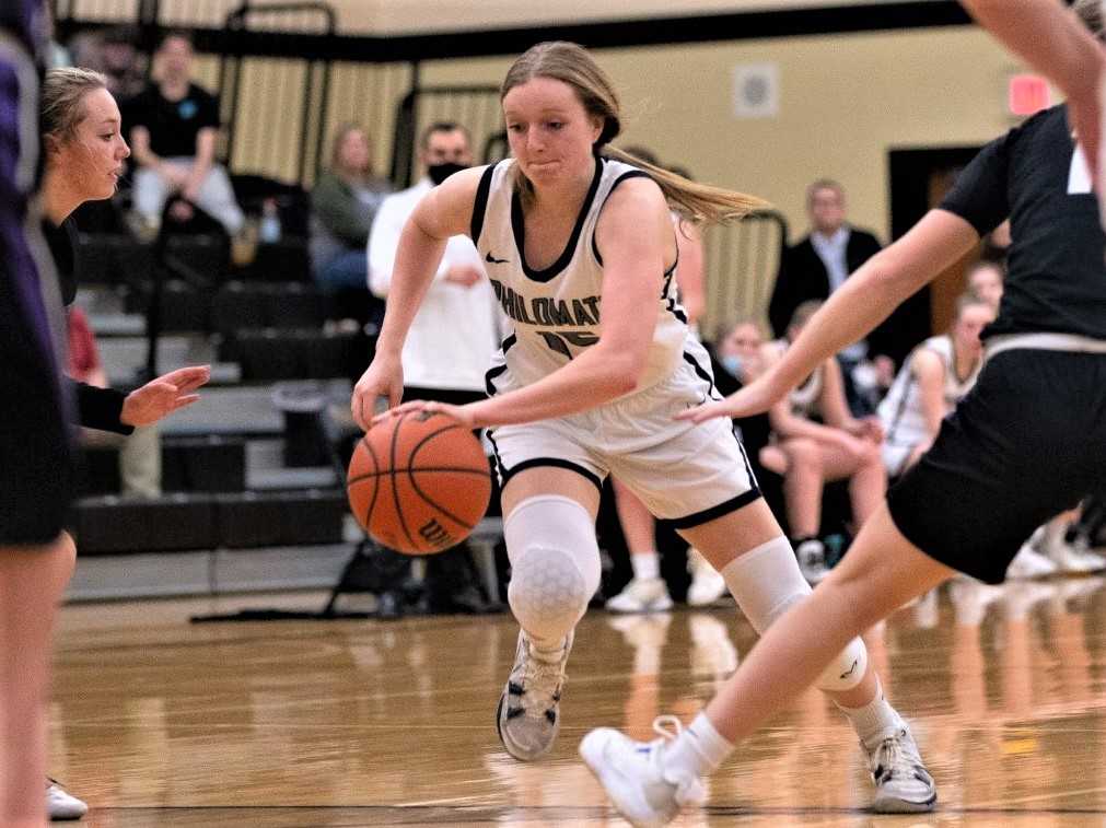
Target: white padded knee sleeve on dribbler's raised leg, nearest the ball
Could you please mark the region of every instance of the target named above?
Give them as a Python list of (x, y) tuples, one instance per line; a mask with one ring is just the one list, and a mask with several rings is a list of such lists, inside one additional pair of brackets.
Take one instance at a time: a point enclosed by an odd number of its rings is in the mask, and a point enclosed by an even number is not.
[(556, 647), (583, 617), (599, 586), (595, 522), (561, 495), (522, 501), (503, 523), (511, 611), (536, 644)]

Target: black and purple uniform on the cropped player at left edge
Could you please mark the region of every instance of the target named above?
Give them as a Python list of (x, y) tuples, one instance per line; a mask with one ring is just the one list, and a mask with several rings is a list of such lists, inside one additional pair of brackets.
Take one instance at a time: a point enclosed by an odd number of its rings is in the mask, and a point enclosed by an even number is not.
[(40, 3), (0, 4), (0, 545), (41, 545), (72, 495), (61, 303), (31, 209), (39, 171)]

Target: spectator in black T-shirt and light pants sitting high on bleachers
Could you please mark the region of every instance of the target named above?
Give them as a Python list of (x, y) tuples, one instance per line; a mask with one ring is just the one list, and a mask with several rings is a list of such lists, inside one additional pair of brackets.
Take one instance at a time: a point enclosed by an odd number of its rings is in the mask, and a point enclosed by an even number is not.
[(135, 212), (145, 228), (156, 229), (168, 198), (179, 195), (170, 208), (174, 219), (187, 222), (192, 207), (198, 207), (228, 235), (236, 235), (244, 218), (227, 170), (215, 157), (218, 98), (190, 81), (194, 54), (187, 34), (167, 34), (154, 57), (155, 83), (126, 107), (126, 127), (139, 165), (134, 175)]

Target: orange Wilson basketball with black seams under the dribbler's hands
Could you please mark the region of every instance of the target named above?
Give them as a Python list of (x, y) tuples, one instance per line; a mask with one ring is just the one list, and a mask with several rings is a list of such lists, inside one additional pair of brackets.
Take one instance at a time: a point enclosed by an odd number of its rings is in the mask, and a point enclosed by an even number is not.
[(373, 539), (408, 555), (456, 546), (488, 510), (491, 473), (472, 432), (440, 412), (369, 429), (346, 476), (349, 507)]

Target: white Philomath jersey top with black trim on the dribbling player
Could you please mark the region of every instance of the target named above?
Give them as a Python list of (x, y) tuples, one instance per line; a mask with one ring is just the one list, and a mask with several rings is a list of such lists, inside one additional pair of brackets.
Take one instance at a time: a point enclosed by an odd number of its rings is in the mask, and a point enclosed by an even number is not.
[[(595, 227), (611, 191), (627, 178), (647, 174), (627, 164), (597, 159), (572, 235), (561, 256), (544, 270), (530, 268), (523, 256), (525, 226), (514, 189), (517, 175), (513, 159), (484, 170), (472, 209), (471, 237), (510, 328), (489, 377), (501, 374), (505, 365), (511, 378), (525, 386), (598, 342), (603, 259)], [(671, 375), (682, 358), (688, 327), (677, 300), (675, 274), (675, 264), (664, 274), (657, 326), (635, 394)]]

